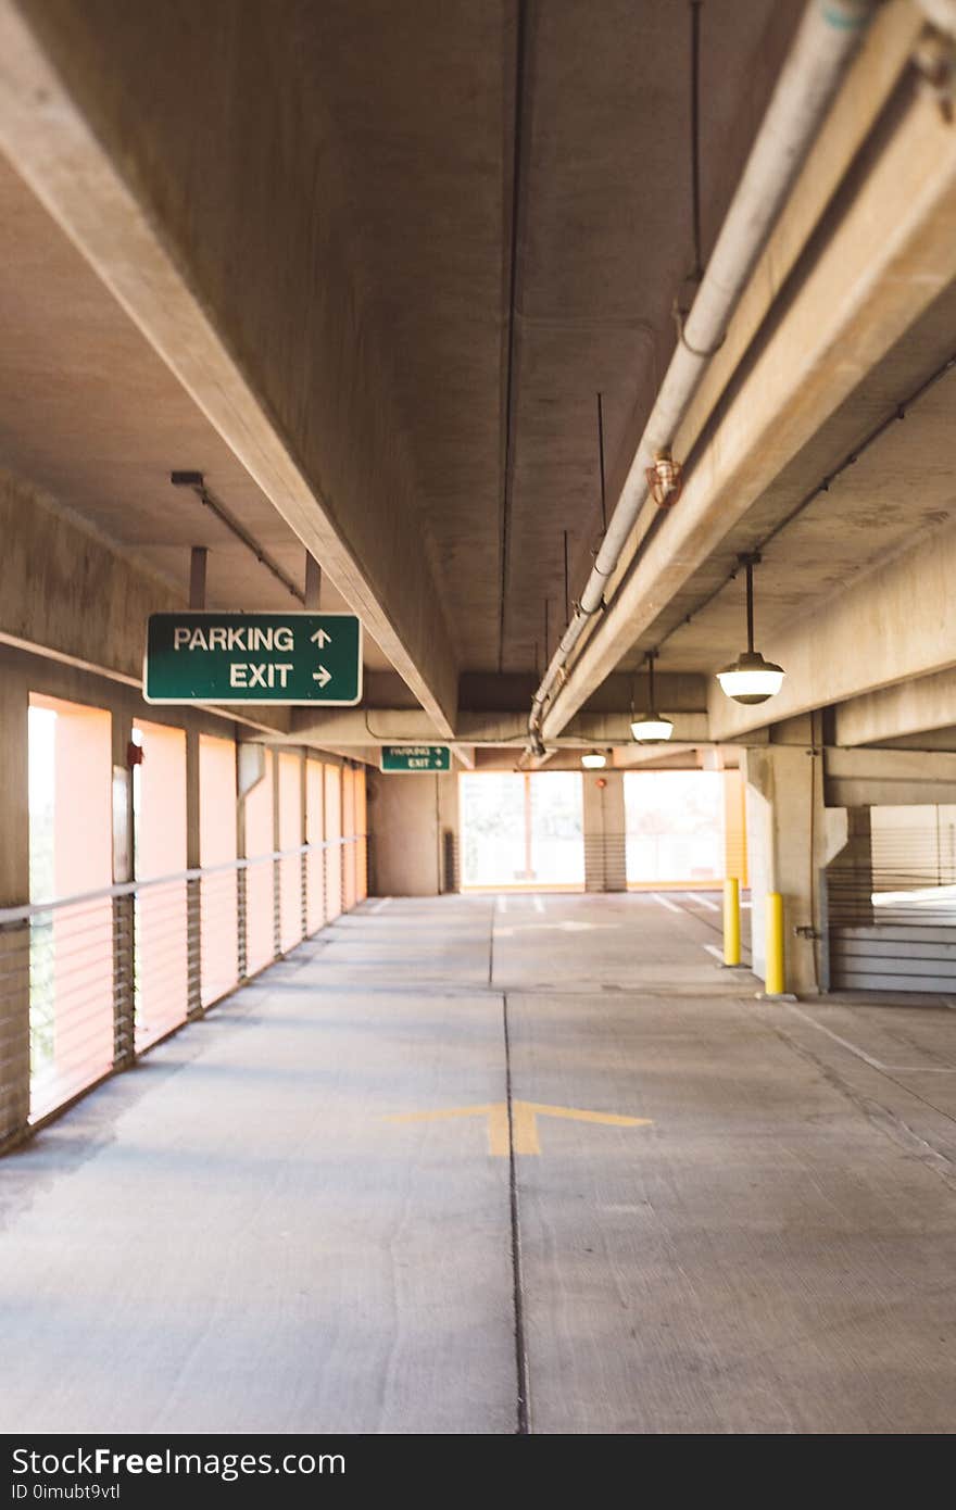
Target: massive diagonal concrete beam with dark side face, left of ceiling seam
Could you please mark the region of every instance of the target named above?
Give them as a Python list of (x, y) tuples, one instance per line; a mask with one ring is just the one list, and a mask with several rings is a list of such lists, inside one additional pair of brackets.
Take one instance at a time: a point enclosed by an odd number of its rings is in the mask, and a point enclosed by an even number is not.
[[(331, 217), (314, 195), (273, 192), (279, 160), (314, 190), (319, 143), (279, 139), (278, 112), (263, 154), (261, 112), (222, 101), (228, 140), (190, 125), (171, 20), (122, 0), (0, 0), (0, 146), (450, 734), (458, 664), (387, 379), (347, 260), (319, 263)], [(193, 51), (214, 59), (216, 8), (192, 14), (204, 26)], [(255, 26), (233, 44), (254, 47)], [(231, 88), (208, 69), (205, 104)], [(355, 423), (343, 411), (359, 405)]]

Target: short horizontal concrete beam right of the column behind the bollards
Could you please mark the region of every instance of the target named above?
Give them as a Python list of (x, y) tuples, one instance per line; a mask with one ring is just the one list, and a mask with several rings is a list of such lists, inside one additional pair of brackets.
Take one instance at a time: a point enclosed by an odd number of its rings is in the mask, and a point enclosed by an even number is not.
[(828, 749), (828, 808), (956, 802), (956, 753), (948, 750)]

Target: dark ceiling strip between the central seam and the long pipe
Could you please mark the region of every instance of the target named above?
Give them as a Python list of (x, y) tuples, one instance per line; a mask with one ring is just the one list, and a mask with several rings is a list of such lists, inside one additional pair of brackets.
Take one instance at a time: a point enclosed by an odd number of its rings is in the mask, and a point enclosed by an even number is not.
[[(799, 11), (732, 0), (702, 8), (704, 260)], [(513, 473), (501, 532), (504, 669), (544, 664), (563, 630), (565, 530), (571, 598), (591, 568), (601, 532), (597, 394), (610, 507), (674, 346), (672, 302), (690, 293), (689, 14), (652, 0), (530, 11)]]

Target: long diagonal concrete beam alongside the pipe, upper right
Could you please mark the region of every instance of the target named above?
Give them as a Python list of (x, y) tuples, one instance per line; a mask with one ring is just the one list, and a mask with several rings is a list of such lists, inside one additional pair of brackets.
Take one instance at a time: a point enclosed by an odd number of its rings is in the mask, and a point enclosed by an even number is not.
[(755, 352), (680, 504), (643, 542), (597, 621), (544, 720), (545, 740), (565, 728), (661, 606), (953, 278), (956, 133), (936, 103), (914, 91), (828, 245)]

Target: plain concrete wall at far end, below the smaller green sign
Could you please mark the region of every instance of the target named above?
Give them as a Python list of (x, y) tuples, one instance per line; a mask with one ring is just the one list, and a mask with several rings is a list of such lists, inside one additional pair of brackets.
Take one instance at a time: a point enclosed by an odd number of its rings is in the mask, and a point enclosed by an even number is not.
[[(435, 897), (443, 889), (444, 840), (458, 855), (458, 775), (369, 773), (372, 886), (379, 897)], [(458, 871), (458, 867), (456, 867)], [(453, 889), (458, 888), (458, 874)]]

